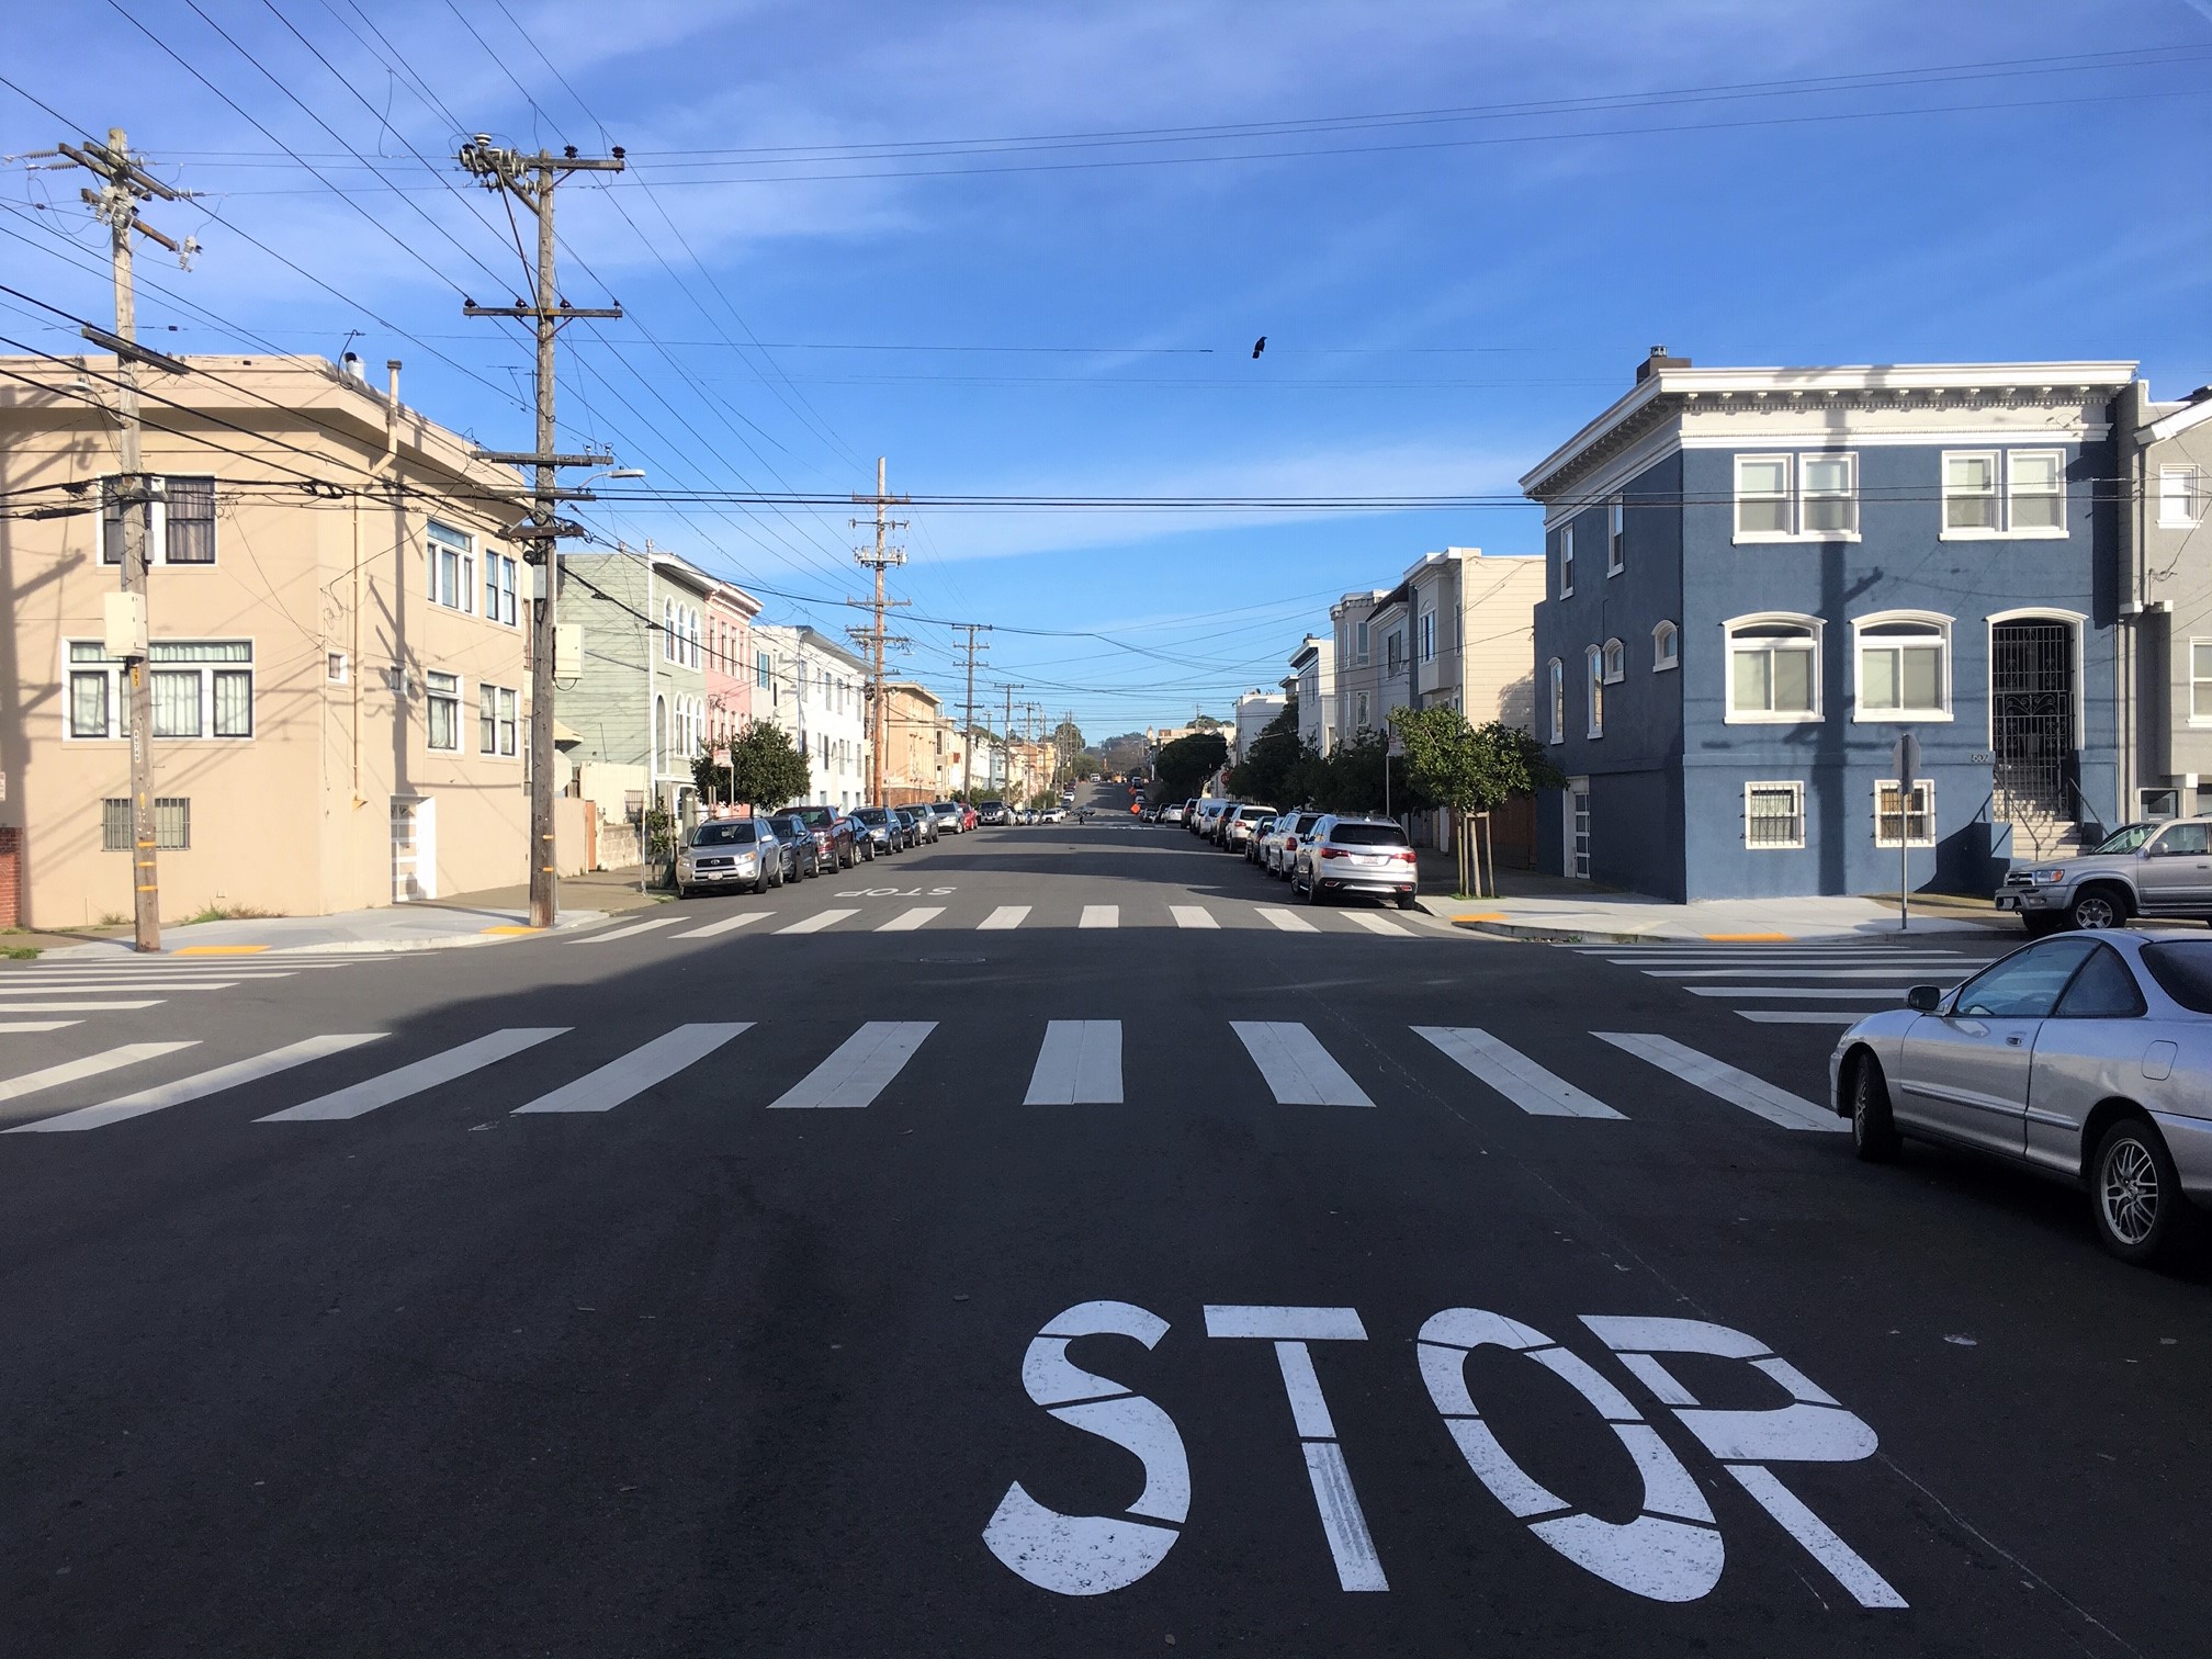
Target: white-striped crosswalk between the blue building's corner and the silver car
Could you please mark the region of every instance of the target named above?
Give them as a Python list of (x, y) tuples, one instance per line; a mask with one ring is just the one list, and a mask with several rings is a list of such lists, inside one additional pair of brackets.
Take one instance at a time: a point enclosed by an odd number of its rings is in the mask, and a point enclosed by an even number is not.
[(1916, 984), (1951, 987), (1980, 973), (2011, 940), (1969, 938), (1960, 945), (1838, 940), (1834, 945), (1571, 945), (1648, 980), (1723, 1002), (1741, 1018), (1770, 1026), (1847, 1026), (1878, 1009), (1896, 1009)]

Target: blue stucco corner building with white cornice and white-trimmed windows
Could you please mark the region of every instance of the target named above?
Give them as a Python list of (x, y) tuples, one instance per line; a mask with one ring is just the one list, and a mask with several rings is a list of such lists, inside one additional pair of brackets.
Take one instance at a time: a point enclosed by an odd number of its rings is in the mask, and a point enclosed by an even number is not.
[[(1655, 349), (1544, 504), (1540, 867), (1674, 900), (1989, 891), (2121, 818), (2132, 363), (1701, 369)], [(1896, 787), (1896, 739), (1920, 781)]]

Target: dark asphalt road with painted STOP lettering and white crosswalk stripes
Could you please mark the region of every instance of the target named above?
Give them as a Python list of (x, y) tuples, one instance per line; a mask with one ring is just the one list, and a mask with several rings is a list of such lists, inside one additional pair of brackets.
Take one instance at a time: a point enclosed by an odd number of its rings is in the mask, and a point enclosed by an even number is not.
[(2205, 1274), (1792, 1106), (1966, 956), (1119, 818), (664, 918), (0, 971), (0, 1652), (2208, 1648)]

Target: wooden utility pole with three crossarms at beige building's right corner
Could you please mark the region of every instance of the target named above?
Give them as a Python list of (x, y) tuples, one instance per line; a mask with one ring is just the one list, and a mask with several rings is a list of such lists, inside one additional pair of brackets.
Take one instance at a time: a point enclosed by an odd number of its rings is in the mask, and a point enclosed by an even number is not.
[[(560, 155), (538, 150), (504, 150), (487, 133), (460, 146), (462, 170), (476, 175), (487, 190), (504, 190), (538, 217), (538, 294), (533, 305), (478, 305), (462, 299), (462, 316), (529, 319), (538, 334), (538, 445), (526, 456), (478, 451), (478, 460), (509, 467), (533, 467), (531, 522), (509, 535), (524, 542), (524, 560), (538, 571), (535, 613), (531, 615), (531, 927), (553, 927), (560, 909), (560, 874), (553, 858), (553, 599), (560, 588), (557, 546), (562, 535), (582, 535), (553, 513), (562, 500), (588, 502), (586, 489), (555, 489), (553, 473), (562, 467), (604, 467), (613, 456), (562, 456), (553, 425), (553, 338), (560, 325), (577, 316), (622, 316), (619, 305), (584, 307), (560, 299), (553, 283), (553, 190), (571, 173), (622, 173), (622, 146), (611, 157), (577, 155), (571, 144)], [(650, 708), (648, 708), (650, 712)], [(646, 805), (653, 803), (653, 779), (646, 779)]]

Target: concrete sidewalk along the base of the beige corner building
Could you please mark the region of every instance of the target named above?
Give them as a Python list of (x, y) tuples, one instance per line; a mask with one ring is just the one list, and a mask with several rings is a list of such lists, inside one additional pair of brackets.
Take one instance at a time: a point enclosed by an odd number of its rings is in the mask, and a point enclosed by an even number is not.
[[(553, 931), (568, 931), (617, 911), (661, 905), (666, 894), (637, 891), (637, 869), (597, 869), (568, 876), (560, 885), (562, 909)], [(283, 956), (440, 951), (476, 945), (507, 945), (538, 938), (529, 927), (529, 887), (493, 887), (480, 894), (427, 898), (416, 905), (383, 905), (336, 916), (261, 916), (223, 922), (184, 922), (161, 929), (161, 956)], [(11, 940), (13, 942), (13, 940)], [(131, 933), (108, 938), (27, 936), (42, 949), (42, 962), (135, 956)]]

